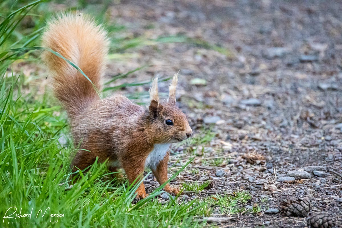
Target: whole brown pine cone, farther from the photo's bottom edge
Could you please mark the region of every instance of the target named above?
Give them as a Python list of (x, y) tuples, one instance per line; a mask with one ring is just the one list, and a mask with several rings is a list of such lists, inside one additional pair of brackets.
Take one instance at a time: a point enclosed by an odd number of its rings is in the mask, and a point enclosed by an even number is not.
[(310, 201), (301, 198), (285, 199), (280, 203), (280, 213), (282, 216), (305, 217), (309, 213)]

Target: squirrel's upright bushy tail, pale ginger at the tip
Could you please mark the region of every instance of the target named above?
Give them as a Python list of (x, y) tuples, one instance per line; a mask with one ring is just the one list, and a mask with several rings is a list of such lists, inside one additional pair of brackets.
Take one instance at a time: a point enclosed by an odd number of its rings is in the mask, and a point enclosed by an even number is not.
[[(80, 13), (63, 14), (50, 20), (42, 37), (44, 47), (79, 66), (99, 91), (102, 89), (108, 44), (107, 34), (101, 26)], [(64, 59), (44, 51), (42, 60), (53, 77), (55, 96), (70, 118), (99, 99), (90, 81)]]

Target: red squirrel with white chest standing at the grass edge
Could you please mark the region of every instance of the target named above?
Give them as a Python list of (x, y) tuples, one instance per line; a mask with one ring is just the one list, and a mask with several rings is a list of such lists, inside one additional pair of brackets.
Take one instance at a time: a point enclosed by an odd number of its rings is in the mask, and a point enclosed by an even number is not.
[[(50, 20), (42, 45), (79, 66), (101, 90), (109, 40), (92, 19), (70, 13)], [(149, 90), (150, 104), (145, 108), (121, 95), (101, 99), (91, 82), (64, 59), (49, 51), (41, 57), (53, 78), (54, 94), (67, 111), (75, 147), (90, 151), (77, 151), (71, 162), (73, 171), (86, 169), (97, 157), (98, 162), (107, 161), (112, 172), (123, 168), (130, 183), (142, 178), (145, 167), (152, 170), (160, 185), (165, 183), (170, 145), (193, 133), (186, 116), (176, 107), (178, 75), (169, 86), (167, 102), (160, 102), (155, 78)], [(169, 184), (164, 190), (179, 193), (179, 188)], [(144, 183), (136, 193), (137, 199), (148, 196)]]

